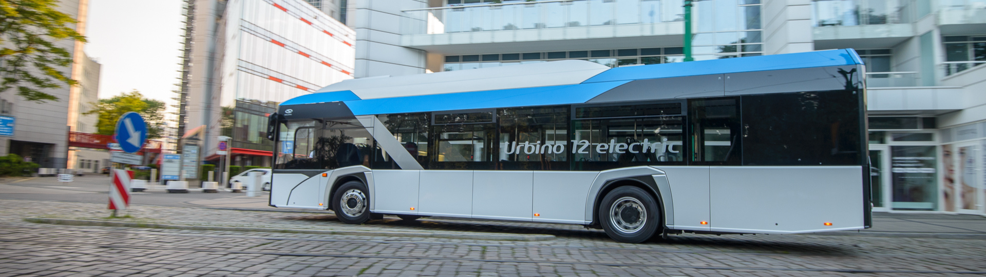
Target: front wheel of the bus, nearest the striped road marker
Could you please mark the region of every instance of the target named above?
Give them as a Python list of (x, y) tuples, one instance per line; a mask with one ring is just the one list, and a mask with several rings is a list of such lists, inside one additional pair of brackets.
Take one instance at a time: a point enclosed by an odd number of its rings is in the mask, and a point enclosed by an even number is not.
[(369, 221), (370, 193), (368, 191), (367, 186), (358, 180), (339, 185), (335, 193), (332, 193), (332, 211), (335, 212), (335, 217), (346, 224), (363, 224)]

